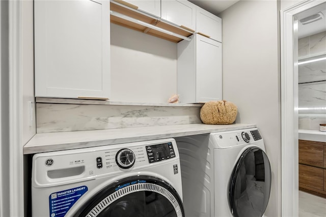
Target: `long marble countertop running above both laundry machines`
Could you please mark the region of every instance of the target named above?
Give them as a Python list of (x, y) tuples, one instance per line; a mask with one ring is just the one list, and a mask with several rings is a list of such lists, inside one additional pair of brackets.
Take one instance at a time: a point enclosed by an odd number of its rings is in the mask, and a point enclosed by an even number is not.
[(87, 148), (129, 142), (181, 137), (256, 127), (256, 124), (180, 124), (168, 126), (37, 133), (23, 147), (24, 154)]

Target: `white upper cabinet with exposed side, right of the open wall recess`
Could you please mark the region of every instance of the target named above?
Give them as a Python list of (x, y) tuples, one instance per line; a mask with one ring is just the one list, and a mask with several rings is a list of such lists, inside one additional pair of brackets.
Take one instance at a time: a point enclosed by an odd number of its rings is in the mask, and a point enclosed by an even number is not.
[(190, 38), (178, 43), (180, 102), (222, 100), (222, 43), (199, 34)]

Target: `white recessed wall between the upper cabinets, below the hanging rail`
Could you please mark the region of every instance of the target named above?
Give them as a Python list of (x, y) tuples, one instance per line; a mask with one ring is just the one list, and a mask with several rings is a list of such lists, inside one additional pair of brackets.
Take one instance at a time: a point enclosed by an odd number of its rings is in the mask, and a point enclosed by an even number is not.
[(111, 23), (111, 101), (164, 103), (177, 92), (177, 44)]

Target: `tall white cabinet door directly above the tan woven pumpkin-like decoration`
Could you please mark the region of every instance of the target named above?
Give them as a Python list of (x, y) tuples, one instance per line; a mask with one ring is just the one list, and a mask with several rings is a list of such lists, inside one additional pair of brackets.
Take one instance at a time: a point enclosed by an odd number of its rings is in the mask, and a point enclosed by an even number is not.
[(196, 37), (196, 102), (222, 100), (222, 43)]

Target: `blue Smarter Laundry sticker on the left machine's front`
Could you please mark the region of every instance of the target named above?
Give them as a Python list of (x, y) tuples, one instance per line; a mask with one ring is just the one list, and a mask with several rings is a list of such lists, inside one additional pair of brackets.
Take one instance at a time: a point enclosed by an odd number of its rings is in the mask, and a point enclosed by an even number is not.
[(87, 186), (79, 186), (52, 193), (49, 196), (50, 217), (65, 216), (76, 201), (88, 191)]

